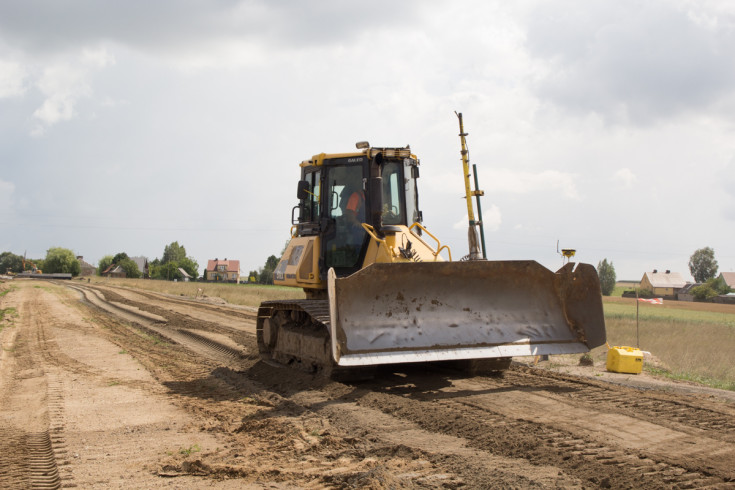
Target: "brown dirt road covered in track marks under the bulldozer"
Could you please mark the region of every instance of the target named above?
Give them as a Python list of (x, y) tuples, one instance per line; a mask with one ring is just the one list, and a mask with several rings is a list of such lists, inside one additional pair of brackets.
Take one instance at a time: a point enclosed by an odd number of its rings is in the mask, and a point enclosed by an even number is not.
[(341, 384), (260, 362), (248, 308), (0, 289), (2, 488), (735, 488), (717, 393), (522, 365)]

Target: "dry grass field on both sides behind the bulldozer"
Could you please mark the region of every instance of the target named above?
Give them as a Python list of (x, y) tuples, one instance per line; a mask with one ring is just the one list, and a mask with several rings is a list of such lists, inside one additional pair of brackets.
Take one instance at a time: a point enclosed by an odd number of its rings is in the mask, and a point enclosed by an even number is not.
[[(99, 277), (92, 281), (189, 297), (195, 297), (201, 288), (208, 297), (245, 306), (258, 306), (271, 299), (304, 297), (300, 289), (280, 286)], [(636, 335), (635, 299), (610, 296), (604, 298), (603, 304), (610, 345), (640, 345), (662, 363), (659, 367), (646, 365), (644, 369), (674, 379), (735, 390), (735, 362), (732, 361), (735, 305), (677, 301), (664, 301), (663, 305), (640, 303)], [(592, 355), (598, 362), (604, 360), (607, 348), (598, 347)]]

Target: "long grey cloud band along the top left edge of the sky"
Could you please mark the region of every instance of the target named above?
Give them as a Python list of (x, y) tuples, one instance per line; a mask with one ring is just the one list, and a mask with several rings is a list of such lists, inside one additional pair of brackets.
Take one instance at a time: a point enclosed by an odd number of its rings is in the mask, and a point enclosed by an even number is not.
[(74, 51), (104, 40), (167, 57), (186, 52), (216, 57), (233, 45), (272, 51), (348, 43), (366, 31), (404, 26), (421, 4), (375, 0), (365, 8), (339, 0), (28, 0), (0, 3), (0, 32), (34, 53)]

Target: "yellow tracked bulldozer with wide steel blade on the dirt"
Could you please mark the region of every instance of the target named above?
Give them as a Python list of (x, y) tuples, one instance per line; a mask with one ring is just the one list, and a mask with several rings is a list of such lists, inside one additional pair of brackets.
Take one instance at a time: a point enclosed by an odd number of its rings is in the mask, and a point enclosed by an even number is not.
[(306, 297), (260, 305), (265, 361), (334, 379), (399, 363), (477, 373), (506, 369), (514, 356), (605, 343), (593, 266), (567, 262), (552, 272), (533, 260), (486, 260), (476, 248), (452, 259), (423, 224), (410, 146), (359, 142), (300, 167), (291, 239), (273, 282)]

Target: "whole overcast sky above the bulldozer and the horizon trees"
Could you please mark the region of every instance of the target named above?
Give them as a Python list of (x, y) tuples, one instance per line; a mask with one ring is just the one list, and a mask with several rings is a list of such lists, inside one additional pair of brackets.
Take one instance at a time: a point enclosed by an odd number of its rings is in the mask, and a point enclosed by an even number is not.
[(1, 2), (0, 251), (177, 241), (245, 275), (288, 241), (299, 163), (367, 140), (411, 146), (461, 257), (455, 111), (489, 259), (735, 270), (727, 0)]

